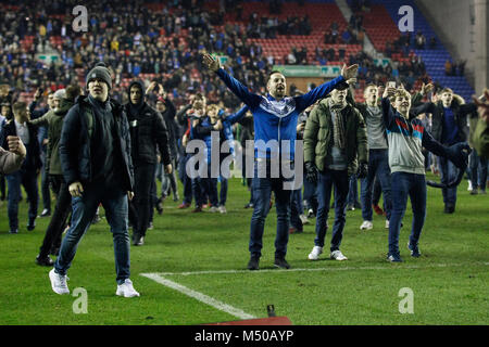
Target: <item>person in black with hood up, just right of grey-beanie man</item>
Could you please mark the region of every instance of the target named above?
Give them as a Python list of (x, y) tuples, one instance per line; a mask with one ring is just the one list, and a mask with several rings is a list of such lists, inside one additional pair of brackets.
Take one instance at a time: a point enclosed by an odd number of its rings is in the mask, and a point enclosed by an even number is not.
[[(124, 105), (129, 123), (131, 139), (131, 158), (135, 167), (135, 201), (131, 202), (133, 244), (145, 243), (153, 204), (152, 184), (158, 162), (162, 162), (165, 172), (172, 172), (172, 154), (168, 130), (162, 115), (145, 101), (142, 82), (134, 81), (127, 89), (129, 102)], [(158, 159), (160, 156), (160, 160)]]

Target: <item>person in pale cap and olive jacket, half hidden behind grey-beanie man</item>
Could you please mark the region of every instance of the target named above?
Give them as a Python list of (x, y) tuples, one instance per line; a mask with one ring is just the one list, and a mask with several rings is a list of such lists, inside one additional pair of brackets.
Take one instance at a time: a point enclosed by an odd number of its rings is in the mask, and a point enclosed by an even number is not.
[(40, 266), (52, 266), (54, 262), (49, 255), (58, 255), (61, 245), (61, 235), (66, 227), (66, 220), (71, 211), (71, 195), (66, 182), (63, 179), (59, 155), (61, 129), (64, 117), (79, 95), (79, 87), (68, 86), (54, 92), (54, 107), (40, 118), (30, 120), (35, 126), (48, 128), (48, 150), (46, 154), (46, 171), (49, 175), (51, 189), (57, 196), (57, 205), (46, 230), (42, 245), (36, 257), (36, 264)]

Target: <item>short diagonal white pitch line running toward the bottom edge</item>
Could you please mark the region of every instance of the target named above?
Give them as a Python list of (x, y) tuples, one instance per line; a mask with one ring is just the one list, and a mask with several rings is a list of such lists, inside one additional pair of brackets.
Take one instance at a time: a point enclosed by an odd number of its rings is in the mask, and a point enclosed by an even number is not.
[(226, 313), (229, 313), (231, 316), (235, 316), (239, 319), (254, 319), (254, 316), (251, 316), (242, 310), (240, 310), (239, 308), (233, 307), (230, 305), (227, 305), (223, 301), (216, 300), (205, 294), (202, 294), (200, 292), (196, 292), (192, 291), (181, 284), (178, 284), (176, 282), (170, 281), (161, 275), (159, 275), (158, 273), (141, 273), (141, 275), (155, 281), (156, 283), (163, 284), (167, 287), (171, 287), (172, 290), (175, 290), (177, 292), (180, 292), (187, 296), (190, 296), (201, 303), (204, 303), (209, 306), (212, 306), (221, 311), (224, 311)]

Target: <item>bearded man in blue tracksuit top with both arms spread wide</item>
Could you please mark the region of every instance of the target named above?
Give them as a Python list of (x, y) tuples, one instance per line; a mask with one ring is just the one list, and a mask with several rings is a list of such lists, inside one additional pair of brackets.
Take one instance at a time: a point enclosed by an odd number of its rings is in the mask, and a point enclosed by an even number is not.
[[(248, 262), (249, 270), (258, 270), (262, 249), (263, 231), (265, 227), (265, 218), (269, 210), (269, 197), (272, 191), (275, 193), (275, 204), (277, 209), (277, 235), (275, 239), (275, 262), (279, 268), (289, 269), (290, 266), (286, 261), (287, 243), (289, 240), (289, 203), (291, 190), (285, 190), (284, 183), (292, 181), (292, 178), (286, 177), (281, 171), (278, 175), (273, 175), (263, 178), (262, 168), (266, 166), (266, 170), (276, 170), (272, 163), (273, 158), (280, 158), (281, 164), (293, 166), (294, 158), (294, 143), (297, 137), (297, 120), (299, 114), (315, 101), (325, 98), (336, 86), (346, 80), (355, 77), (358, 65), (343, 67), (341, 76), (334, 80), (323, 83), (314, 88), (304, 95), (290, 98), (286, 97), (286, 78), (279, 72), (272, 72), (268, 76), (266, 85), (267, 95), (262, 97), (251, 93), (246, 86), (229, 76), (217, 60), (211, 54), (203, 55), (203, 64), (211, 70), (215, 72), (217, 76), (226, 83), (230, 91), (233, 91), (253, 114), (254, 120), (254, 158), (260, 170), (254, 165), (253, 175), (253, 196), (254, 210), (251, 218), (250, 228), (250, 244), (249, 250), (251, 254)], [(285, 142), (285, 141), (288, 141)], [(277, 145), (278, 144), (278, 145)], [(285, 157), (281, 154), (283, 146), (286, 145), (286, 152), (289, 156)], [(260, 165), (262, 164), (262, 165)], [(266, 165), (263, 165), (266, 164)], [(300, 164), (302, 166), (302, 163)], [(293, 168), (292, 168), (293, 169)], [(278, 176), (278, 177), (276, 177)]]

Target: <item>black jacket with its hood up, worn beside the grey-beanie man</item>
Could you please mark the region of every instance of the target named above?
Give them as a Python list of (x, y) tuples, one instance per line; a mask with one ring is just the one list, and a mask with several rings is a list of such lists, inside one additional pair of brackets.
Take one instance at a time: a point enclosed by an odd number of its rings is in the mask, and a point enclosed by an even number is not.
[[(139, 86), (141, 100), (138, 104), (130, 102), (130, 88)], [(129, 123), (131, 139), (131, 156), (135, 164), (156, 164), (156, 155), (161, 155), (164, 165), (172, 164), (168, 130), (162, 115), (145, 102), (145, 87), (134, 81), (127, 89), (129, 102), (124, 105)]]

